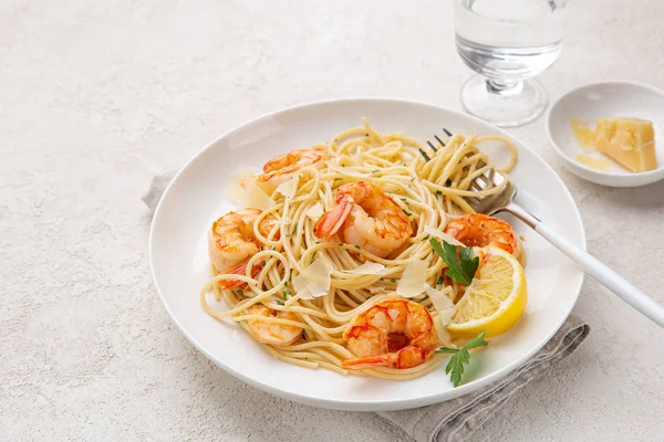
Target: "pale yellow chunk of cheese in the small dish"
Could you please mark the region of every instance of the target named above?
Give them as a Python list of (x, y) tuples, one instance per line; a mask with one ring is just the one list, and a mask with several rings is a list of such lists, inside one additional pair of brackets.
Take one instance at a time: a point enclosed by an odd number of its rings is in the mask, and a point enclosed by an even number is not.
[(633, 172), (657, 168), (653, 124), (639, 118), (598, 118), (595, 147)]

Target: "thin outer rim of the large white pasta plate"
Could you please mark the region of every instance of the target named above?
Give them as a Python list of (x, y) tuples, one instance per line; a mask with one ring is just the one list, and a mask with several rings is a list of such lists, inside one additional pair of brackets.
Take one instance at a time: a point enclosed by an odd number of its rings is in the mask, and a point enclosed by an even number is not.
[[(326, 408), (326, 409), (333, 409), (333, 410), (346, 410), (346, 411), (390, 411), (390, 410), (406, 410), (406, 409), (411, 409), (411, 408), (416, 408), (416, 407), (424, 407), (424, 406), (429, 406), (429, 404), (434, 404), (434, 403), (442, 403), (442, 402), (446, 402), (448, 400), (465, 396), (467, 393), (470, 393), (473, 391), (479, 390), (490, 383), (494, 383), (495, 381), (498, 381), (502, 378), (505, 378), (507, 375), (509, 375), (511, 371), (513, 371), (515, 369), (519, 368), (520, 366), (523, 365), (523, 362), (526, 362), (529, 358), (531, 358), (535, 354), (537, 354), (548, 341), (550, 341), (551, 337), (560, 329), (560, 327), (564, 324), (564, 322), (567, 320), (567, 318), (570, 316), (572, 309), (574, 308), (574, 306), (577, 305), (578, 301), (579, 301), (579, 296), (581, 293), (581, 288), (583, 285), (583, 282), (585, 280), (585, 274), (583, 272), (580, 272), (580, 277), (579, 281), (577, 282), (577, 287), (575, 290), (573, 290), (573, 302), (570, 304), (569, 309), (567, 311), (567, 313), (562, 316), (561, 320), (559, 322), (559, 324), (553, 327), (551, 329), (551, 332), (543, 338), (541, 339), (541, 341), (533, 347), (533, 349), (529, 352), (527, 352), (525, 356), (515, 359), (513, 361), (511, 361), (510, 364), (508, 364), (507, 366), (502, 367), (501, 369), (491, 372), (490, 375), (480, 378), (478, 380), (474, 380), (467, 383), (464, 383), (460, 387), (454, 388), (453, 390), (449, 391), (445, 391), (445, 392), (437, 392), (434, 394), (428, 394), (428, 396), (424, 396), (424, 397), (417, 397), (417, 398), (408, 398), (408, 399), (401, 399), (401, 400), (334, 400), (334, 399), (328, 399), (328, 398), (311, 398), (304, 394), (300, 394), (300, 393), (294, 393), (294, 392), (290, 392), (290, 391), (286, 391), (286, 390), (281, 390), (279, 388), (272, 387), (269, 383), (263, 383), (260, 382), (253, 378), (250, 378), (248, 376), (245, 376), (242, 372), (235, 370), (234, 368), (226, 366), (221, 360), (219, 360), (217, 357), (215, 357), (214, 355), (211, 355), (210, 352), (208, 352), (204, 346), (201, 346), (191, 335), (189, 335), (189, 333), (187, 333), (187, 330), (183, 327), (183, 325), (180, 324), (180, 322), (177, 319), (176, 315), (174, 314), (174, 312), (172, 311), (172, 308), (169, 307), (168, 303), (166, 302), (166, 298), (159, 287), (159, 283), (157, 281), (156, 277), (156, 272), (155, 272), (155, 261), (153, 259), (153, 249), (155, 248), (155, 220), (158, 219), (160, 210), (162, 210), (162, 206), (164, 200), (166, 199), (165, 197), (168, 194), (168, 192), (172, 190), (173, 185), (177, 181), (178, 177), (200, 156), (203, 155), (205, 151), (207, 151), (208, 149), (210, 149), (212, 146), (215, 146), (217, 143), (221, 141), (222, 139), (231, 136), (234, 133), (239, 131), (241, 129), (243, 129), (247, 126), (250, 126), (252, 124), (257, 124), (260, 120), (263, 120), (266, 118), (270, 118), (272, 116), (282, 114), (282, 113), (288, 113), (288, 112), (292, 112), (292, 110), (297, 110), (297, 109), (302, 109), (302, 108), (307, 108), (307, 107), (312, 107), (312, 106), (325, 106), (325, 105), (330, 105), (330, 104), (339, 104), (339, 103), (357, 103), (357, 102), (374, 102), (374, 103), (396, 103), (396, 104), (403, 104), (403, 105), (415, 105), (415, 106), (424, 106), (424, 107), (429, 107), (433, 108), (435, 110), (444, 110), (444, 112), (448, 112), (448, 113), (453, 113), (453, 114), (457, 114), (464, 118), (468, 118), (470, 120), (474, 120), (476, 123), (480, 123), (483, 125), (488, 125), (491, 126), (492, 130), (496, 130), (497, 134), (509, 137), (510, 139), (517, 141), (518, 144), (520, 144), (521, 146), (523, 146), (523, 148), (526, 148), (527, 150), (530, 151), (530, 154), (532, 154), (536, 159), (542, 164), (542, 166), (547, 169), (549, 169), (549, 171), (551, 171), (553, 173), (554, 179), (562, 186), (562, 189), (564, 189), (564, 197), (567, 199), (569, 199), (569, 201), (572, 203), (572, 207), (574, 208), (574, 218), (575, 221), (579, 223), (580, 225), (580, 234), (581, 234), (581, 244), (578, 244), (581, 246), (581, 249), (585, 250), (587, 248), (587, 238), (585, 238), (585, 229), (583, 227), (583, 220), (581, 218), (581, 213), (579, 211), (579, 207), (577, 204), (577, 202), (574, 201), (574, 198), (572, 197), (570, 190), (568, 189), (568, 187), (564, 185), (564, 182), (562, 181), (562, 179), (560, 178), (560, 176), (556, 172), (556, 170), (553, 170), (553, 168), (542, 158), (539, 156), (539, 154), (537, 154), (533, 149), (531, 149), (530, 147), (528, 147), (528, 145), (526, 145), (525, 143), (522, 143), (519, 138), (508, 134), (506, 130), (498, 128), (494, 125), (491, 125), (490, 123), (487, 123), (483, 119), (479, 119), (477, 117), (474, 117), (471, 115), (461, 113), (459, 110), (455, 110), (452, 109), (449, 107), (445, 107), (445, 106), (439, 106), (433, 103), (426, 103), (426, 102), (419, 102), (419, 101), (413, 101), (413, 99), (402, 99), (402, 98), (391, 98), (391, 97), (378, 97), (378, 96), (360, 96), (360, 97), (341, 97), (341, 98), (331, 98), (331, 99), (320, 99), (320, 101), (312, 101), (312, 102), (307, 102), (307, 103), (302, 103), (302, 104), (295, 104), (292, 106), (288, 106), (278, 110), (273, 110), (273, 112), (269, 112), (262, 115), (259, 115), (258, 117), (255, 117), (253, 119), (250, 119), (246, 123), (242, 123), (234, 128), (231, 128), (230, 130), (227, 130), (226, 133), (224, 133), (221, 136), (217, 137), (216, 139), (214, 139), (211, 143), (208, 143), (205, 147), (203, 147), (200, 150), (198, 150), (193, 157), (189, 158), (189, 160), (187, 160), (187, 162), (185, 165), (183, 165), (177, 172), (175, 173), (175, 176), (172, 178), (172, 180), (168, 182), (168, 186), (166, 187), (166, 189), (164, 190), (164, 192), (162, 193), (162, 197), (159, 198), (159, 201), (153, 212), (153, 218), (152, 218), (152, 222), (151, 222), (151, 228), (149, 228), (149, 235), (148, 235), (148, 260), (149, 260), (149, 266), (151, 266), (151, 274), (153, 277), (153, 283), (154, 283), (154, 287), (157, 291), (158, 295), (159, 295), (159, 299), (162, 301), (162, 304), (164, 306), (164, 308), (166, 309), (166, 312), (168, 313), (168, 316), (170, 317), (170, 320), (177, 326), (177, 328), (179, 329), (179, 332), (185, 336), (185, 338), (198, 350), (200, 351), (204, 356), (206, 356), (210, 361), (212, 361), (217, 367), (221, 368), (224, 371), (226, 371), (227, 373), (234, 376), (235, 378), (241, 380), (242, 382), (250, 385), (255, 388), (258, 388), (259, 390), (266, 391), (268, 393), (274, 394), (277, 397), (283, 398), (283, 399), (288, 399), (288, 400), (292, 400), (299, 403), (303, 403), (307, 406), (313, 406), (313, 407), (319, 407), (319, 408)], [(444, 396), (444, 398), (442, 398), (442, 396)]]

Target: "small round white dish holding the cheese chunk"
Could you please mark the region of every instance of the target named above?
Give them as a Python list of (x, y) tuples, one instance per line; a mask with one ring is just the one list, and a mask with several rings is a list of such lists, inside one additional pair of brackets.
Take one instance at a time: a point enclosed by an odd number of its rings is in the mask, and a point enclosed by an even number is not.
[[(591, 126), (601, 117), (635, 117), (653, 122), (657, 169), (634, 173), (611, 161), (610, 171), (592, 169), (577, 161), (583, 149), (570, 127), (570, 118), (580, 117)], [(594, 83), (558, 98), (547, 115), (547, 135), (553, 150), (579, 177), (602, 186), (636, 187), (664, 179), (664, 92), (631, 82)]]

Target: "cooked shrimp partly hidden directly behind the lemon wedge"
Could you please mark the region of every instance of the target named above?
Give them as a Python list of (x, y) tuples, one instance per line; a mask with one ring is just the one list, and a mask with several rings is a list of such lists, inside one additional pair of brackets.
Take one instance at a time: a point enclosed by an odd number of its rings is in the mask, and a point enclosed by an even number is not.
[(481, 213), (470, 213), (447, 223), (445, 233), (456, 238), (469, 248), (500, 248), (521, 259), (522, 250), (515, 231), (507, 221), (487, 217)]

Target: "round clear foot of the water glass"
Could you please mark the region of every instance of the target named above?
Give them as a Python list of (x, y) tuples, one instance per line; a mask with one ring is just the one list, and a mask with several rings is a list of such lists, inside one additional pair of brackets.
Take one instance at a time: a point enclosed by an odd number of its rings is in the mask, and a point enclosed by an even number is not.
[(475, 75), (461, 87), (466, 112), (500, 127), (530, 123), (547, 108), (544, 87), (536, 80), (499, 83)]

